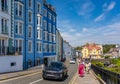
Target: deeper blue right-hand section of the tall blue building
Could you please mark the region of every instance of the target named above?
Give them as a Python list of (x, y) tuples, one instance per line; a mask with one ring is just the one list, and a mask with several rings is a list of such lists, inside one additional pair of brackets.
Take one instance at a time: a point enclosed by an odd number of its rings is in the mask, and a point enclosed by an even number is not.
[(57, 61), (56, 56), (56, 11), (51, 4), (43, 3), (43, 56), (44, 64)]

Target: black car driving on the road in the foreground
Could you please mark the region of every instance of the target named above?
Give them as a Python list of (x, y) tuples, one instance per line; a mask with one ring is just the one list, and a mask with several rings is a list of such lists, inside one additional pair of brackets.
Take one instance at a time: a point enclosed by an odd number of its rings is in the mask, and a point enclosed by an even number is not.
[(43, 79), (60, 79), (64, 80), (67, 76), (67, 68), (62, 62), (51, 62), (48, 67), (43, 70)]

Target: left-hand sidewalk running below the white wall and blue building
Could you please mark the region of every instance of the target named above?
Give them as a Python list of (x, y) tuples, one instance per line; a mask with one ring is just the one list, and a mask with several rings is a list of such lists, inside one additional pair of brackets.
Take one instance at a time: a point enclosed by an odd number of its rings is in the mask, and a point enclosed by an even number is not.
[(28, 74), (33, 74), (33, 73), (37, 73), (37, 72), (42, 72), (41, 66), (36, 66), (36, 67), (30, 68), (30, 69), (27, 69), (24, 71), (0, 74), (0, 81), (10, 79), (10, 78), (19, 77), (19, 76), (24, 76), (24, 75), (28, 75)]

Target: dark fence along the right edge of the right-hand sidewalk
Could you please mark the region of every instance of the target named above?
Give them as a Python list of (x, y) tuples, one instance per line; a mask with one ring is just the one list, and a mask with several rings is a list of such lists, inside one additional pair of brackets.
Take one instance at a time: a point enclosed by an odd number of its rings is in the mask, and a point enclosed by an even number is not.
[(96, 75), (99, 75), (106, 84), (120, 84), (120, 74), (102, 69), (100, 67), (91, 66)]

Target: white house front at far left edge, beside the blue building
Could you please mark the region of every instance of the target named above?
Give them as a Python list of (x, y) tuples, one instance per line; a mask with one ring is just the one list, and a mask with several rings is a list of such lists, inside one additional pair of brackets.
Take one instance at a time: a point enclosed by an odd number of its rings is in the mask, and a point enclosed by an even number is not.
[(0, 0), (0, 55), (7, 53), (11, 37), (11, 0)]

